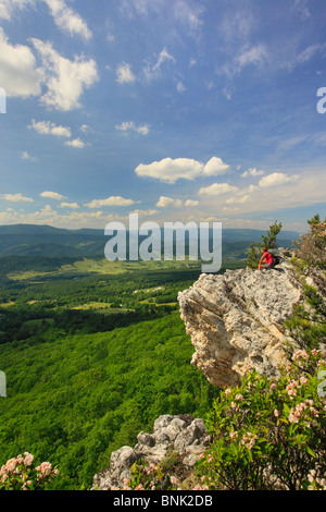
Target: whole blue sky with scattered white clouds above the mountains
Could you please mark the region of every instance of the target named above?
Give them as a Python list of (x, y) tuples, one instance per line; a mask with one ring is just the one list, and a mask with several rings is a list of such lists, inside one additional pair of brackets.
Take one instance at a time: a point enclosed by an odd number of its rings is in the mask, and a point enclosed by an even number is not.
[(325, 0), (0, 0), (0, 224), (305, 231)]

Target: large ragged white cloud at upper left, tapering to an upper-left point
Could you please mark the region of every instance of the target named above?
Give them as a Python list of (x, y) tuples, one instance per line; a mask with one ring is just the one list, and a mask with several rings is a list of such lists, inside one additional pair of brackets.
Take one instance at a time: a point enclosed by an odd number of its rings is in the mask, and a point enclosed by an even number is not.
[(46, 73), (48, 92), (41, 97), (41, 102), (48, 108), (63, 111), (79, 108), (84, 88), (98, 80), (95, 60), (75, 57), (71, 61), (58, 53), (51, 42), (35, 38), (32, 42), (41, 57)]

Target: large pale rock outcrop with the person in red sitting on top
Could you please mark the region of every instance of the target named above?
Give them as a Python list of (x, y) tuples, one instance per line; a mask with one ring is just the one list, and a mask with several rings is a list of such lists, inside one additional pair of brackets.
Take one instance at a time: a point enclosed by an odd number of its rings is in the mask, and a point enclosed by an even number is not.
[(302, 298), (302, 285), (283, 252), (273, 270), (201, 275), (178, 302), (196, 349), (191, 364), (215, 386), (237, 386), (255, 368), (268, 378), (286, 359), (283, 324)]

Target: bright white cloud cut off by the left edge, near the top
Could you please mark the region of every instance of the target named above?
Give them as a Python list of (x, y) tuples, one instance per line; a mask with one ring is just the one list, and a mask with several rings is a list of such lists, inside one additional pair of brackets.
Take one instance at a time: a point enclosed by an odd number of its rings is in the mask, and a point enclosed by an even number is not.
[(8, 97), (39, 96), (45, 75), (27, 46), (11, 45), (0, 27), (0, 84)]

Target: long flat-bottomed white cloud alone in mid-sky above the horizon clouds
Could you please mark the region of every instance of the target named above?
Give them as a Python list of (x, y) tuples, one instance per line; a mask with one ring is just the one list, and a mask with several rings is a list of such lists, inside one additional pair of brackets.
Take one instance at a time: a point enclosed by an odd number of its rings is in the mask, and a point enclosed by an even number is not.
[(163, 158), (163, 160), (148, 164), (140, 163), (135, 172), (142, 178), (154, 178), (165, 183), (175, 183), (179, 179), (195, 180), (200, 175), (224, 174), (228, 168), (229, 166), (217, 157), (211, 158), (206, 164), (191, 158)]

